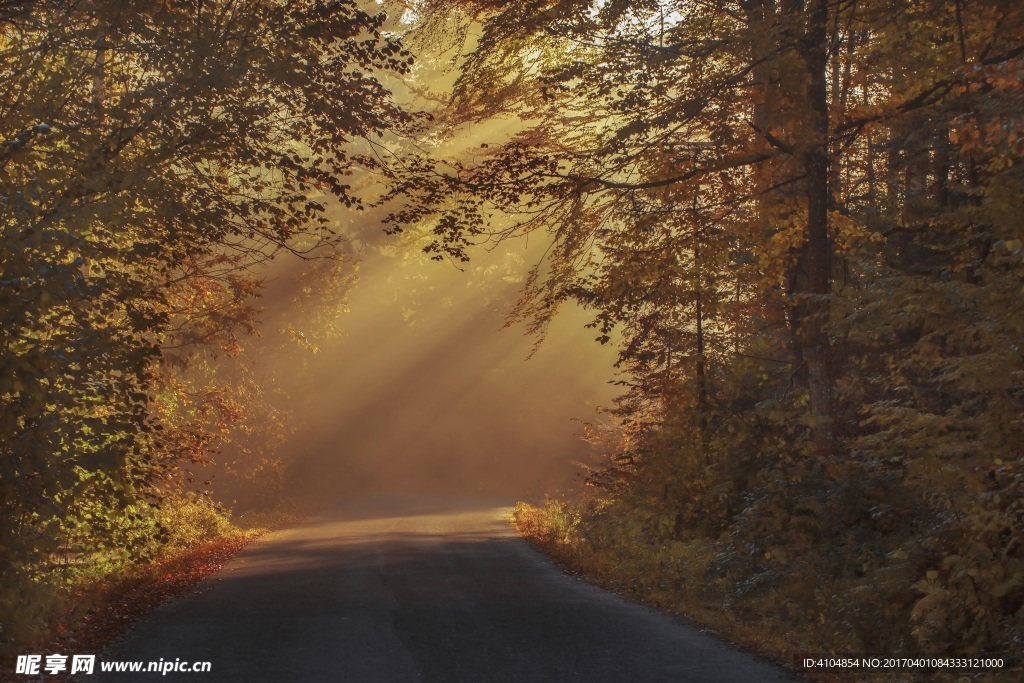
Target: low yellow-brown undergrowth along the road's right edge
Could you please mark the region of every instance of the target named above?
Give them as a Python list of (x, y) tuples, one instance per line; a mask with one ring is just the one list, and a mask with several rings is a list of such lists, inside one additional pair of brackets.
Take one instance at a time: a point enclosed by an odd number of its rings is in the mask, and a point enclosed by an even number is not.
[[(657, 531), (655, 508), (644, 503), (629, 495), (548, 498), (540, 505), (519, 503), (513, 522), (568, 570), (818, 680), (1022, 680), (1019, 649), (963, 645), (971, 638), (1018, 642), (1022, 629), (1020, 622), (990, 620), (983, 624), (989, 632), (969, 632), (979, 628), (976, 622), (985, 620), (985, 610), (954, 602), (964, 599), (954, 588), (964, 559), (947, 561), (940, 577), (913, 548), (910, 553), (885, 553), (867, 543), (844, 545), (836, 540), (801, 547), (770, 533), (751, 542), (738, 524), (717, 538), (672, 538)], [(829, 512), (817, 510), (814, 523), (826, 521)], [(980, 586), (976, 584), (976, 590)], [(948, 621), (957, 614), (959, 622)], [(804, 671), (800, 665), (810, 654), (906, 656), (936, 651), (934, 643), (950, 641), (965, 647), (961, 654), (1004, 657), (1006, 668), (840, 675), (835, 670)]]

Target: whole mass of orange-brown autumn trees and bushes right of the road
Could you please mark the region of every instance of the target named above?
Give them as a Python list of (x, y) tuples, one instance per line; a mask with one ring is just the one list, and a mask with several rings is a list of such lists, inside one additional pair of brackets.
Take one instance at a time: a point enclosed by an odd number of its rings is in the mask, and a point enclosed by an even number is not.
[(621, 348), (590, 496), (526, 526), (791, 649), (1019, 668), (1020, 3), (422, 4), (472, 27), (452, 131), (520, 132), (411, 155), (395, 229), (546, 236), (516, 313)]

